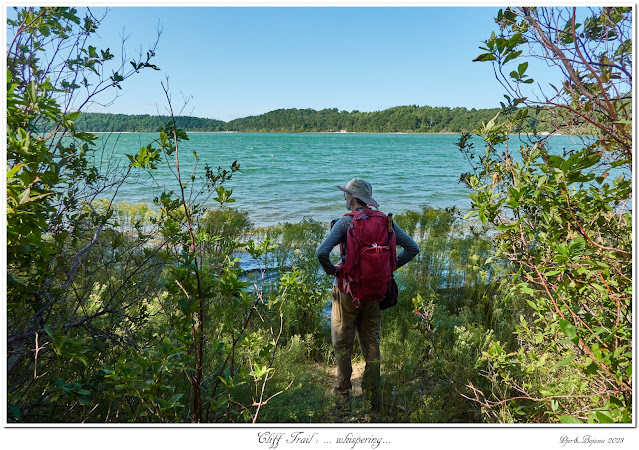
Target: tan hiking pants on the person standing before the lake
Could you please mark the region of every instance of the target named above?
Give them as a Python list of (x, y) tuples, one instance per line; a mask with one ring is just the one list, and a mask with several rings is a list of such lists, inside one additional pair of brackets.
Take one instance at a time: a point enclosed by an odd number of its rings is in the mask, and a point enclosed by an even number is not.
[(337, 362), (337, 394), (348, 396), (351, 384), (351, 357), (355, 331), (359, 338), (362, 354), (366, 361), (362, 389), (376, 398), (380, 390), (379, 331), (382, 325), (382, 311), (378, 302), (362, 302), (359, 308), (353, 298), (341, 292), (337, 286), (332, 291), (331, 338), (335, 347)]

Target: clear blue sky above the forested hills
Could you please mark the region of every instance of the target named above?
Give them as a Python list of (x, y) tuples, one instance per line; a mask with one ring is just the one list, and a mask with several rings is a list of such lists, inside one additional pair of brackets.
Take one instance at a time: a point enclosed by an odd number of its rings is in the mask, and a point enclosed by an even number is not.
[[(96, 13), (104, 8), (94, 8)], [(114, 104), (89, 111), (174, 108), (231, 120), (278, 108), (376, 111), (392, 106), (498, 107), (490, 63), (474, 63), (497, 26), (495, 6), (109, 7), (100, 48), (133, 56), (163, 28), (155, 63)], [(115, 50), (115, 51), (114, 51)]]

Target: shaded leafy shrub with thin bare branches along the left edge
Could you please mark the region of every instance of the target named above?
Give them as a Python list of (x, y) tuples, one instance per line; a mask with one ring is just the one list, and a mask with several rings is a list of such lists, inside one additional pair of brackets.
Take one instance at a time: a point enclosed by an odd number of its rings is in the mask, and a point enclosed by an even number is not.
[[(17, 419), (60, 420), (62, 413), (36, 411), (53, 402), (88, 402), (83, 384), (89, 376), (73, 373), (73, 367), (88, 365), (91, 345), (121, 339), (110, 331), (113, 323), (99, 321), (127, 314), (136, 303), (120, 302), (132, 293), (128, 281), (152, 267), (150, 256), (141, 258), (107, 291), (101, 283), (108, 280), (108, 270), (102, 278), (94, 271), (79, 279), (101, 246), (113, 214), (113, 192), (129, 169), (99, 173), (92, 163), (97, 136), (80, 131), (74, 121), (96, 96), (157, 67), (150, 62), (154, 47), (145, 56), (117, 63), (109, 49), (91, 45), (102, 20), (91, 10), (82, 17), (74, 8), (16, 8), (13, 17), (7, 47), (9, 409)], [(105, 192), (112, 193), (111, 200), (98, 207), (94, 200)], [(111, 250), (117, 238), (106, 239)], [(102, 267), (113, 263), (106, 258)], [(133, 291), (133, 298), (140, 295)], [(93, 301), (102, 294), (108, 300)]]

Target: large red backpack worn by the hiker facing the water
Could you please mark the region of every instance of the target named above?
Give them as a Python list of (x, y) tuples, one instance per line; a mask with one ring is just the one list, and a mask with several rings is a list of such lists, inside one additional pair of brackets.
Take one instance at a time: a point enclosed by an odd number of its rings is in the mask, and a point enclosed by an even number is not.
[[(346, 237), (346, 261), (338, 274), (338, 287), (360, 302), (384, 298), (397, 264), (397, 238), (392, 215), (370, 206), (345, 214), (353, 216)], [(344, 244), (340, 245), (344, 255)]]

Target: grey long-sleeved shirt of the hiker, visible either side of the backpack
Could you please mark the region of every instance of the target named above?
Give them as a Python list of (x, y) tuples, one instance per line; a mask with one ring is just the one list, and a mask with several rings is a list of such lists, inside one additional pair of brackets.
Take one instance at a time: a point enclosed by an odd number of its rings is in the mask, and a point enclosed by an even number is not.
[[(346, 243), (346, 235), (348, 227), (353, 221), (353, 216), (342, 216), (333, 226), (331, 232), (326, 236), (326, 239), (317, 247), (315, 255), (319, 259), (320, 264), (324, 268), (324, 271), (329, 274), (335, 274), (335, 266), (331, 263), (330, 253), (333, 247), (340, 243)], [(402, 251), (397, 255), (397, 268), (406, 264), (413, 259), (419, 253), (419, 246), (417, 243), (406, 234), (396, 223), (393, 223), (393, 230), (395, 231), (395, 237), (397, 239), (397, 245), (402, 247)]]

